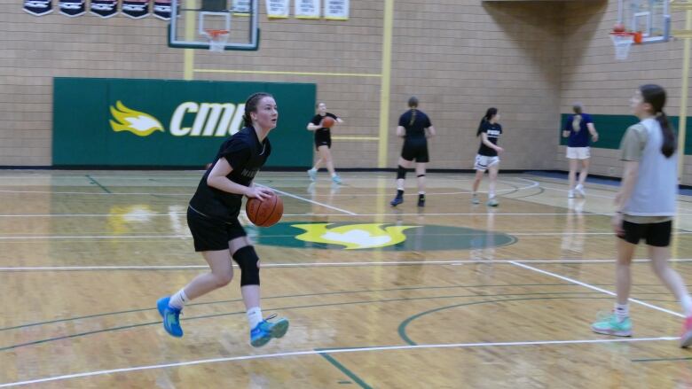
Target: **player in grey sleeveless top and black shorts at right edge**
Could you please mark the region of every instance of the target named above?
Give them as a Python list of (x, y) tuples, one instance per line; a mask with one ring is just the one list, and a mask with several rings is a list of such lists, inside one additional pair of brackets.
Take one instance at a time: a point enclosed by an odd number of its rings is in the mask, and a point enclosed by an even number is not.
[(663, 109), (665, 90), (642, 85), (632, 97), (633, 113), (641, 121), (627, 128), (620, 144), (625, 161), (622, 184), (615, 198), (613, 230), (617, 240), (617, 301), (612, 315), (592, 324), (595, 332), (632, 335), (627, 301), (632, 286), (630, 264), (640, 239), (649, 246), (651, 268), (680, 301), (686, 316), (680, 346), (692, 345), (692, 298), (680, 275), (668, 266), (672, 217), (678, 192), (675, 135)]

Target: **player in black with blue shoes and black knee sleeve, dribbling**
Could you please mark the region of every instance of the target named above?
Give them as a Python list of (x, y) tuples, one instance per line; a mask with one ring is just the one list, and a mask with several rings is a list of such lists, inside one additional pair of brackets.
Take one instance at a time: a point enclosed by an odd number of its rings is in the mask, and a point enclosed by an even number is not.
[(256, 93), (245, 103), (245, 128), (226, 139), (212, 167), (202, 177), (187, 208), (187, 224), (193, 234), (194, 250), (201, 252), (211, 272), (193, 279), (183, 289), (157, 302), (163, 328), (174, 337), (182, 337), (180, 312), (185, 304), (229, 284), (233, 277), (232, 261), (240, 267), (240, 292), (248, 311), (250, 344), (263, 346), (271, 338), (281, 338), (288, 321), (269, 322), (260, 309), (259, 258), (238, 221), (241, 200), (265, 199), (269, 189), (252, 181), (271, 153), (267, 135), (276, 127), (279, 113), (274, 97)]

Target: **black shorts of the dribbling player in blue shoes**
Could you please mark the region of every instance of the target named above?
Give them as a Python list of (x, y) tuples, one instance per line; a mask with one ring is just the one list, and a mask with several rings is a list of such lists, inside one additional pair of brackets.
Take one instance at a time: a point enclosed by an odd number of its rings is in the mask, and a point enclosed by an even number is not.
[(193, 233), (194, 251), (210, 252), (228, 250), (228, 242), (236, 237), (247, 237), (243, 226), (238, 222), (238, 217), (231, 222), (224, 222), (202, 215), (187, 207), (187, 226)]

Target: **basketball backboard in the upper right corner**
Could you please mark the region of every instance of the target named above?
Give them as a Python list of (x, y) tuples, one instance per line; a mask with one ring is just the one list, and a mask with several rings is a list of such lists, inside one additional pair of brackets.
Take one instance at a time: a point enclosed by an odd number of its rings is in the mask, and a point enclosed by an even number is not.
[(618, 0), (617, 21), (627, 32), (641, 32), (641, 43), (667, 42), (671, 35), (669, 0)]

